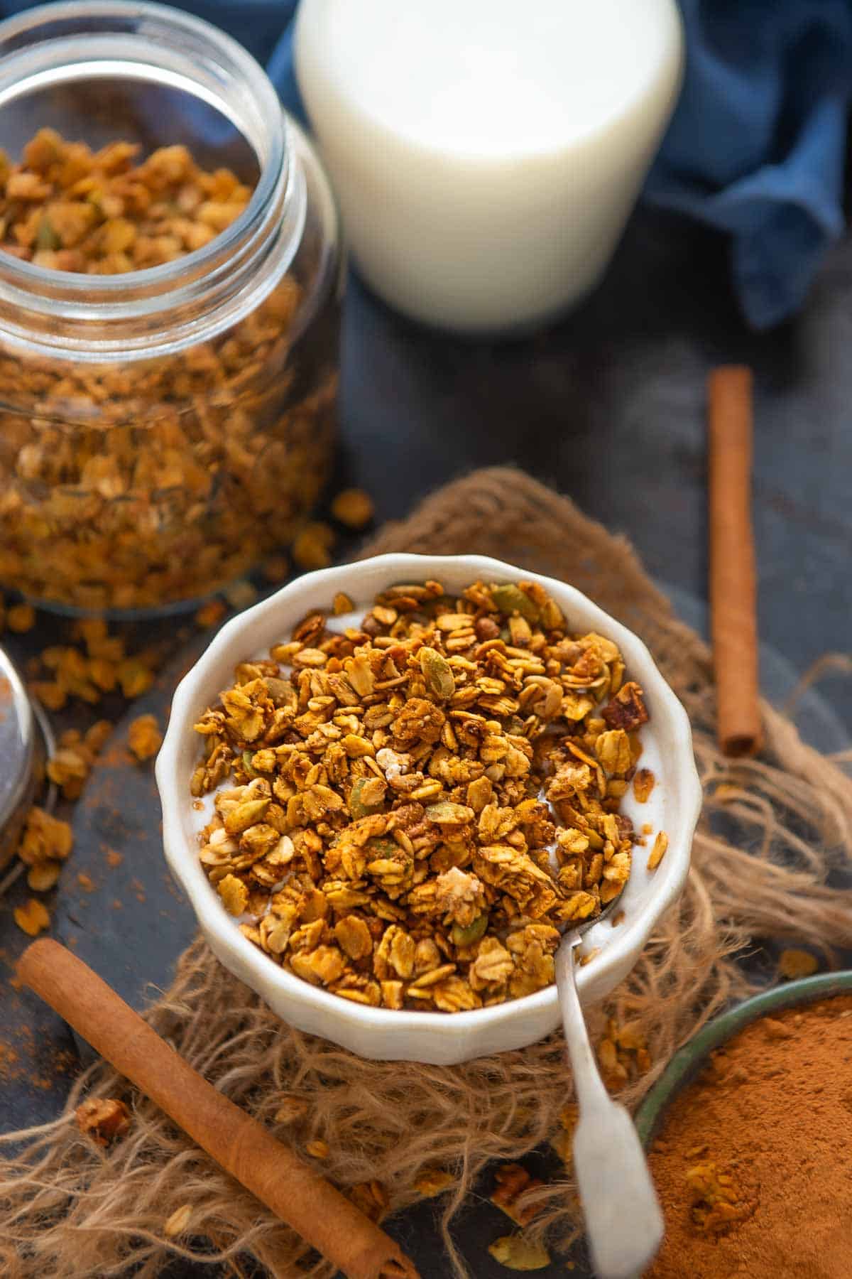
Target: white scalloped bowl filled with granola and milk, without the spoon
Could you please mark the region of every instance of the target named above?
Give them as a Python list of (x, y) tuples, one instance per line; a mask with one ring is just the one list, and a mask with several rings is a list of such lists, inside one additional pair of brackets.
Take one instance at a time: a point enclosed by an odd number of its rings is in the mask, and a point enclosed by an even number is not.
[(180, 683), (165, 852), (218, 959), (285, 1021), (448, 1064), (559, 1023), (635, 963), (688, 870), (683, 707), (566, 583), (473, 555), (323, 569)]

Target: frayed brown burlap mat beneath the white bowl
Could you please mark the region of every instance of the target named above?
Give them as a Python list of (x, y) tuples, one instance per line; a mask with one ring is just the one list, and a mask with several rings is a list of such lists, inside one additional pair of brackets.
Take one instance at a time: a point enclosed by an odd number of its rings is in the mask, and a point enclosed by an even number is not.
[[(761, 758), (723, 758), (706, 646), (672, 615), (623, 538), (528, 476), (494, 468), (448, 485), (386, 527), (364, 555), (392, 550), (475, 551), (574, 583), (645, 640), (688, 710), (705, 792), (688, 886), (630, 978), (591, 1016), (593, 1033), (614, 1016), (639, 1022), (646, 1036), (651, 1068), (623, 1094), (634, 1104), (696, 1027), (746, 993), (733, 955), (752, 938), (810, 943), (829, 961), (832, 945), (849, 943), (852, 891), (830, 889), (826, 876), (832, 865), (852, 863), (852, 781), (769, 706)], [(263, 1123), (276, 1127), (285, 1095), (304, 1099), (303, 1126), (278, 1131), (298, 1146), (324, 1140), (327, 1173), (339, 1186), (378, 1181), (399, 1210), (418, 1198), (423, 1169), (452, 1173), (452, 1187), (436, 1201), (447, 1273), (465, 1273), (452, 1218), (483, 1166), (552, 1138), (571, 1092), (558, 1035), (461, 1067), (364, 1062), (282, 1024), (201, 940), (148, 1019)], [(77, 1132), (74, 1108), (84, 1092), (124, 1096), (133, 1108), (130, 1134), (109, 1151)], [(17, 1149), (22, 1141), (23, 1155), (0, 1161), (0, 1273), (10, 1279), (100, 1279), (129, 1265), (135, 1275), (155, 1275), (175, 1255), (229, 1261), (235, 1273), (249, 1257), (275, 1275), (330, 1274), (106, 1065), (77, 1082), (55, 1123), (5, 1138)], [(536, 1196), (533, 1232), (547, 1230), (557, 1244), (570, 1238), (570, 1181)], [(184, 1204), (192, 1207), (189, 1234), (169, 1239), (165, 1221)], [(202, 1251), (204, 1238), (213, 1256)]]

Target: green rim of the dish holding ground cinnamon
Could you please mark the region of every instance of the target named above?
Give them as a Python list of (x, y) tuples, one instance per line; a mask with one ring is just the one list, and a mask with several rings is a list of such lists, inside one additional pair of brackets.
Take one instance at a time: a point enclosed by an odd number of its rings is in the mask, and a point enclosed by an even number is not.
[(773, 986), (714, 1017), (674, 1054), (666, 1073), (636, 1111), (636, 1128), (645, 1149), (659, 1132), (669, 1104), (700, 1073), (714, 1049), (733, 1039), (759, 1017), (772, 1016), (783, 1008), (812, 1004), (832, 995), (848, 994), (852, 994), (852, 971), (819, 973), (816, 977), (801, 977), (783, 986)]

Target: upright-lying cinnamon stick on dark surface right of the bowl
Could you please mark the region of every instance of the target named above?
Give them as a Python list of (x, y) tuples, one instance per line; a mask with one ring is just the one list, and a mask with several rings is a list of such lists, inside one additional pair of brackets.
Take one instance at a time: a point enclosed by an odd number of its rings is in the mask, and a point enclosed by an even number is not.
[(738, 365), (708, 379), (710, 623), (717, 733), (724, 755), (760, 749), (755, 546), (751, 528), (751, 372)]

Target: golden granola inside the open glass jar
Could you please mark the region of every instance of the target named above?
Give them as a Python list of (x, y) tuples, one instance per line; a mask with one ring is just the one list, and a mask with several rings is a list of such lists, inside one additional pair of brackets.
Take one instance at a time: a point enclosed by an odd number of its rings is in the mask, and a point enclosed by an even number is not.
[[(20, 164), (0, 152), (0, 252), (129, 274), (201, 248), (250, 197), (185, 147), (137, 152), (49, 129)], [(291, 345), (317, 270), (305, 253), (254, 312), (174, 356), (106, 366), (0, 344), (1, 582), (92, 611), (157, 608), (296, 536), (326, 480), (337, 390), (333, 298)]]

